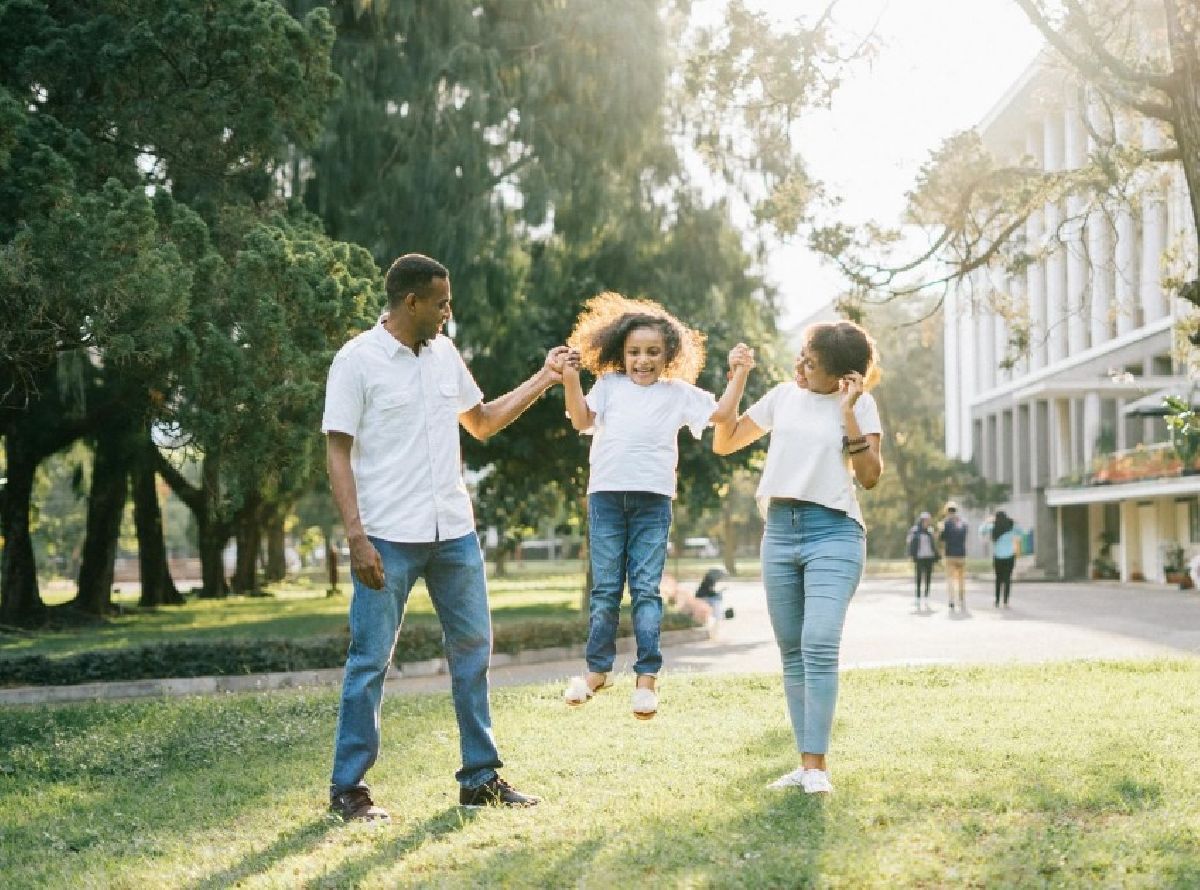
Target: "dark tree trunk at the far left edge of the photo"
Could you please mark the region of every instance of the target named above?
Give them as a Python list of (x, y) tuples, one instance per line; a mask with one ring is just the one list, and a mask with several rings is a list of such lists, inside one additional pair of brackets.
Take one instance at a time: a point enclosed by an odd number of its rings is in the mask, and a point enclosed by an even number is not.
[(0, 624), (32, 627), (46, 620), (46, 603), (37, 589), (37, 564), (29, 531), (29, 506), (38, 455), (29, 447), (17, 423), (5, 437), (8, 481), (0, 489)]

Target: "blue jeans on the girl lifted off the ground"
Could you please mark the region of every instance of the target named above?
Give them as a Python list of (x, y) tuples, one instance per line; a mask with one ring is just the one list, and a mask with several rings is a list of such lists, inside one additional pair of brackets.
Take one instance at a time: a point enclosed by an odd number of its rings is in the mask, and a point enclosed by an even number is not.
[(662, 667), (659, 584), (667, 561), (671, 498), (652, 492), (593, 492), (588, 495), (588, 554), (592, 560), (588, 670), (606, 674), (617, 659), (620, 597), (629, 579), (634, 603), (636, 674)]

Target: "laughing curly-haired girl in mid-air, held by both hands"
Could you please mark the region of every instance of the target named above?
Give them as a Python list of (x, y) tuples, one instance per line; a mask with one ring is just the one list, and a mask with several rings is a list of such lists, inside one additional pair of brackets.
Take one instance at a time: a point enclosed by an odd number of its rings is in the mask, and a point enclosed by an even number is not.
[[(588, 476), (592, 596), (588, 672), (570, 680), (564, 699), (583, 704), (607, 685), (628, 579), (637, 643), (632, 710), (647, 720), (659, 708), (659, 585), (676, 495), (679, 429), (688, 427), (698, 439), (712, 421), (734, 417), (754, 353), (744, 343), (730, 351), (730, 381), (718, 402), (694, 385), (704, 363), (703, 336), (655, 302), (612, 293), (588, 301), (568, 345), (566, 410), (571, 425), (593, 437)], [(599, 378), (587, 396), (581, 367)]]

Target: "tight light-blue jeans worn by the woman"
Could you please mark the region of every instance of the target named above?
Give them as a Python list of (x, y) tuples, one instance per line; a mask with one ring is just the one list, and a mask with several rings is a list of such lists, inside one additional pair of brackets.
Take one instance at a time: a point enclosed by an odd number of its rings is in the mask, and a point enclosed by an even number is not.
[(841, 629), (865, 555), (863, 527), (846, 513), (808, 501), (772, 500), (762, 537), (762, 581), (802, 753), (829, 748)]

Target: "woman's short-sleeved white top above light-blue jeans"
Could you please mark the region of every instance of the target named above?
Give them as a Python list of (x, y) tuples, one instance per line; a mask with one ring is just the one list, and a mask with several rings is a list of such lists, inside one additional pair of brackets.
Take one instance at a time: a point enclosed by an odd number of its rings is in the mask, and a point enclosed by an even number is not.
[[(863, 511), (854, 494), (850, 457), (842, 450), (841, 393), (821, 395), (796, 383), (781, 383), (746, 411), (770, 433), (767, 464), (758, 482), (758, 498), (794, 498), (840, 510), (859, 525)], [(882, 433), (880, 410), (864, 392), (854, 403), (863, 435)]]

